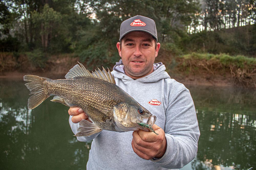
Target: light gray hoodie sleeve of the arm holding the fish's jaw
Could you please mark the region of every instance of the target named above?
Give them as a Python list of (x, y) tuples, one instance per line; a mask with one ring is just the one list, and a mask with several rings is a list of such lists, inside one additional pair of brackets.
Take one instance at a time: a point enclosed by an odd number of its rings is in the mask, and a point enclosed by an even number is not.
[(164, 168), (182, 168), (197, 153), (200, 136), (195, 106), (185, 86), (170, 91), (166, 109), (165, 138), (167, 148), (162, 158), (151, 160)]

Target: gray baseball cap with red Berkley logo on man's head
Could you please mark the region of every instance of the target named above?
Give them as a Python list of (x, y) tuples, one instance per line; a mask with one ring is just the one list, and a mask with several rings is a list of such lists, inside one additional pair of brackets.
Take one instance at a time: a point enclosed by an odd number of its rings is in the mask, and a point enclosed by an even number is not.
[(144, 31), (151, 34), (157, 41), (156, 24), (153, 19), (136, 15), (132, 18), (124, 20), (120, 26), (120, 38), (119, 41), (128, 33), (132, 31)]

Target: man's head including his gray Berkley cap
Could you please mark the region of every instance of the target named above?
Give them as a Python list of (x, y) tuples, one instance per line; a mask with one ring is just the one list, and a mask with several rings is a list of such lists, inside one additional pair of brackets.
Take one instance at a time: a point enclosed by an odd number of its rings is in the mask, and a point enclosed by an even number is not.
[(138, 79), (153, 72), (160, 48), (154, 20), (137, 15), (123, 21), (119, 40), (116, 47), (126, 75)]

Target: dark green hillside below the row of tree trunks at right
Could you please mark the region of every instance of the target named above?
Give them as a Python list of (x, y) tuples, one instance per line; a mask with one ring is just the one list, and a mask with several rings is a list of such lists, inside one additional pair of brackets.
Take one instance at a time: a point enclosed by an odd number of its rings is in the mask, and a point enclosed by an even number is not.
[(227, 53), (230, 55), (256, 55), (254, 25), (213, 32), (191, 34), (182, 39), (185, 53)]

